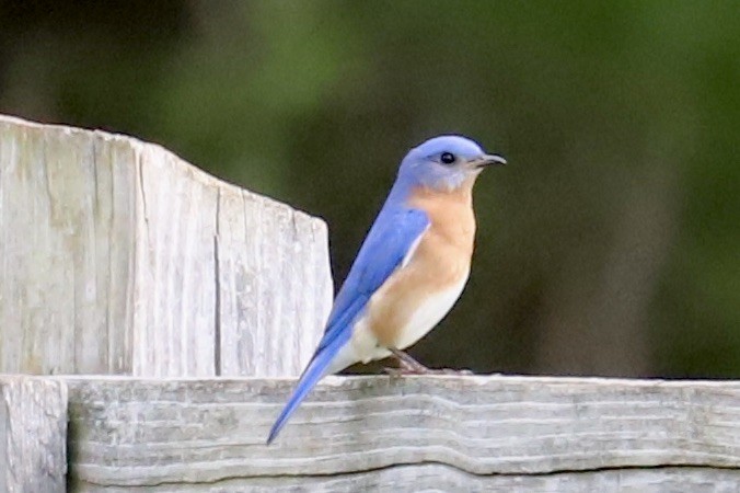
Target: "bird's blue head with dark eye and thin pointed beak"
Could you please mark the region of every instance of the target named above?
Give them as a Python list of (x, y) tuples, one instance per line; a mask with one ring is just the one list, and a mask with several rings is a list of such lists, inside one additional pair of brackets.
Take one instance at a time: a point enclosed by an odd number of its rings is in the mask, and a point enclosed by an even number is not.
[(411, 186), (451, 192), (472, 183), (484, 168), (506, 164), (497, 154), (486, 153), (473, 140), (456, 136), (433, 137), (412, 149), (401, 162), (398, 181)]

